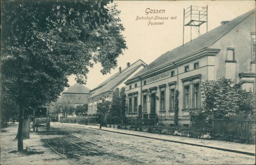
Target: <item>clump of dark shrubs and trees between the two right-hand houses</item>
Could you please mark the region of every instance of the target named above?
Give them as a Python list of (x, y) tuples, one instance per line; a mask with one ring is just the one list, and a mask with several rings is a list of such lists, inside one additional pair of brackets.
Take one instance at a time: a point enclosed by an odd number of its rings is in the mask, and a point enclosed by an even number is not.
[(103, 100), (97, 103), (97, 115), (99, 116), (100, 124), (104, 124), (106, 117), (125, 117), (126, 111), (126, 95), (125, 88), (118, 88), (113, 92), (112, 101)]

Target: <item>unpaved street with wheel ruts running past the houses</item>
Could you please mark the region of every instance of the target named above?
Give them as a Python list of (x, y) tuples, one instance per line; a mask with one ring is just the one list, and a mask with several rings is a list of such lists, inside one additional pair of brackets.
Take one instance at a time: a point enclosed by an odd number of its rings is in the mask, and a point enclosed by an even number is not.
[(253, 156), (161, 140), (53, 123), (39, 130), (51, 146), (74, 164), (254, 164)]

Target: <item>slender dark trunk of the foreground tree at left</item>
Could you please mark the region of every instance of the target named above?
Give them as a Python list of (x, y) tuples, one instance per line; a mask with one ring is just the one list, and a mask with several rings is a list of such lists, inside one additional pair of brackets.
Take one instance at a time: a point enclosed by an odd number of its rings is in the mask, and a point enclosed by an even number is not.
[(18, 151), (23, 151), (23, 119), (24, 119), (24, 106), (19, 107), (19, 126), (18, 126)]

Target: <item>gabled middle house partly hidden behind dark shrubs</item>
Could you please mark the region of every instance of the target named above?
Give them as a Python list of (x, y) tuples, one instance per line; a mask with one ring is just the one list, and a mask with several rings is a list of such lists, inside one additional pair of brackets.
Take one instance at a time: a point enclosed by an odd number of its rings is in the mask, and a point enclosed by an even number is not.
[(95, 89), (91, 90), (90, 97), (88, 98), (88, 114), (96, 113), (97, 103), (100, 100), (104, 99), (106, 101), (112, 101), (113, 91), (116, 88), (120, 89), (121, 87), (125, 87), (124, 82), (138, 73), (141, 69), (145, 68), (146, 65), (147, 64), (140, 59), (133, 64), (127, 63), (127, 67), (125, 69), (121, 69), (121, 67), (119, 67), (118, 73), (110, 76), (110, 78), (99, 84)]

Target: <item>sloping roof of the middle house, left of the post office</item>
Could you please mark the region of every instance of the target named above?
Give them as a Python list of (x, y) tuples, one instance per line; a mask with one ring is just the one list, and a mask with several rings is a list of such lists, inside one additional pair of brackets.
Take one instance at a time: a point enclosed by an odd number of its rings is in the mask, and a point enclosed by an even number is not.
[[(115, 73), (110, 78), (106, 79), (103, 83), (100, 83), (95, 89), (91, 90), (93, 95), (90, 97), (94, 97), (96, 95), (102, 94), (103, 92), (114, 90), (116, 86), (125, 81), (125, 79), (129, 78), (129, 76), (134, 73), (141, 66), (146, 67), (146, 63), (139, 59), (135, 63), (131, 64), (130, 67), (127, 67), (121, 71), (121, 73)], [(89, 97), (89, 98), (90, 98)]]

